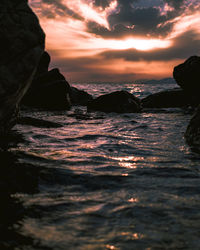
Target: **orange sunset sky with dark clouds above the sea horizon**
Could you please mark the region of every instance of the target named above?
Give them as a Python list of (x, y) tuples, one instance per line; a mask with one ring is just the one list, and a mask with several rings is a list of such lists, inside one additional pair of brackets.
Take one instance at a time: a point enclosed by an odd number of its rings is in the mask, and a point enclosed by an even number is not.
[(171, 77), (200, 55), (200, 0), (29, 0), (69, 82)]

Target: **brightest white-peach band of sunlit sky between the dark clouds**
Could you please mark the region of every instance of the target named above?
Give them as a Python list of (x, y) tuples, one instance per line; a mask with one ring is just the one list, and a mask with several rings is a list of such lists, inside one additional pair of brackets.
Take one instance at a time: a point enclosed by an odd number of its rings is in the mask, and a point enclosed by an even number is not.
[[(70, 46), (71, 50), (93, 50), (90, 54), (95, 54), (95, 51), (99, 53), (105, 50), (136, 49), (148, 51), (158, 48), (167, 48), (172, 44), (168, 39), (139, 39), (130, 37), (121, 40), (103, 39), (86, 33), (80, 21), (68, 21), (68, 23), (49, 21), (43, 24), (47, 31), (47, 44), (50, 49), (55, 47), (66, 49), (66, 47)], [(62, 39), (58, 39), (58, 37), (61, 36)]]

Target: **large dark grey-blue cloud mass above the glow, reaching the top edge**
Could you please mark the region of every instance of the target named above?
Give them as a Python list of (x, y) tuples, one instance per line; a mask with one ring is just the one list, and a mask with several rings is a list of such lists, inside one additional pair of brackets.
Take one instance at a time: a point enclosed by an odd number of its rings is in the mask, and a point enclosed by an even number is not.
[[(164, 9), (165, 4), (171, 8)], [(116, 10), (107, 17), (110, 29), (94, 22), (89, 22), (87, 28), (88, 32), (104, 38), (165, 37), (172, 30), (173, 19), (187, 7), (185, 0), (118, 0)]]

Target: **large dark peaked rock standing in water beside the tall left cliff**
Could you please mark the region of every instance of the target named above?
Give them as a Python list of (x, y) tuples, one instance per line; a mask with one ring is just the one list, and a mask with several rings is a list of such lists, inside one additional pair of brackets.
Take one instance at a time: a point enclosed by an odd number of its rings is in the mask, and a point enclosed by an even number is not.
[(71, 106), (70, 86), (58, 69), (34, 79), (22, 105), (45, 110), (67, 110)]

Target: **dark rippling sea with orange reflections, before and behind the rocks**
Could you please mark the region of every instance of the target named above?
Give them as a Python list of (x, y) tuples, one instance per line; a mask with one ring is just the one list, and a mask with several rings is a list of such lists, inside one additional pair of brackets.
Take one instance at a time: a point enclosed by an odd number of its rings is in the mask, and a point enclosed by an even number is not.
[[(139, 98), (174, 81), (74, 84)], [(62, 127), (16, 125), (1, 139), (0, 249), (200, 249), (200, 154), (190, 109), (22, 111)]]

